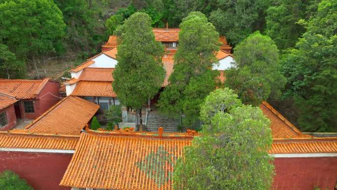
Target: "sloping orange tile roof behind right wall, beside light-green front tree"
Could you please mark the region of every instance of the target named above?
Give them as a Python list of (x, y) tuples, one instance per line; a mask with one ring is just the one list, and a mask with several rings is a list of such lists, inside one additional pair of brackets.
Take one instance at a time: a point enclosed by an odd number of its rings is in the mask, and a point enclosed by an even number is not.
[(260, 109), (262, 110), (263, 114), (265, 114), (270, 119), (272, 138), (311, 137), (310, 135), (303, 134), (291, 122), (289, 122), (274, 108), (272, 108), (267, 102), (263, 102), (260, 105)]

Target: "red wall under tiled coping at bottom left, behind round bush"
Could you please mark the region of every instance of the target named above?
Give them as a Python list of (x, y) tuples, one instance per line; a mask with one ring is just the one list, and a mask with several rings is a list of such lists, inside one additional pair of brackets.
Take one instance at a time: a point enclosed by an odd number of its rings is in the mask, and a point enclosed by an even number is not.
[(34, 190), (70, 190), (59, 184), (71, 157), (72, 153), (0, 151), (0, 172), (15, 172)]

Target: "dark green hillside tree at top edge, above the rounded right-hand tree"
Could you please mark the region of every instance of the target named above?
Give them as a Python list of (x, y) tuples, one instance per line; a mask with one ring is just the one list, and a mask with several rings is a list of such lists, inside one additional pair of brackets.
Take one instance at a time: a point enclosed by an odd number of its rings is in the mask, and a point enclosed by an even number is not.
[(305, 32), (299, 20), (308, 18), (317, 7), (317, 0), (279, 0), (267, 10), (266, 34), (279, 49), (294, 47), (298, 38)]

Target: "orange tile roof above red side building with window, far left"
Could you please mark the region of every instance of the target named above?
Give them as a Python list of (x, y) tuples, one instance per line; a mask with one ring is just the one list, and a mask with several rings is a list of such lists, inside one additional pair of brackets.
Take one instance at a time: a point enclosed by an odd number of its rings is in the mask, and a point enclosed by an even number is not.
[[(23, 80), (23, 79), (0, 79), (0, 90), (11, 93), (17, 99), (35, 98), (44, 85), (51, 79)], [(52, 80), (55, 81), (55, 80)]]

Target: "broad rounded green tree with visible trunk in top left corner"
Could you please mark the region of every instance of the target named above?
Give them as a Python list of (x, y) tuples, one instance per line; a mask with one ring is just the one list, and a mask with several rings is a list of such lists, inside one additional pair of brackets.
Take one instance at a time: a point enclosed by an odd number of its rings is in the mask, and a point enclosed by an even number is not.
[(17, 58), (31, 60), (39, 77), (37, 57), (62, 47), (65, 24), (61, 10), (52, 0), (0, 2), (0, 43)]

